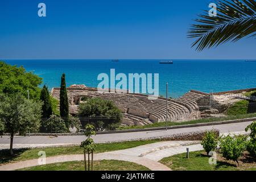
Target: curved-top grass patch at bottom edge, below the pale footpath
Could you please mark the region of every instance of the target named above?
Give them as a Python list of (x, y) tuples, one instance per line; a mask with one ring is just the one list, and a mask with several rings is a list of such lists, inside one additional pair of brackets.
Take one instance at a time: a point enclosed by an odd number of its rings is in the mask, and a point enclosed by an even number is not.
[[(95, 160), (94, 171), (150, 171), (147, 167), (121, 160)], [(84, 171), (84, 162), (72, 161), (20, 169), (20, 171)]]

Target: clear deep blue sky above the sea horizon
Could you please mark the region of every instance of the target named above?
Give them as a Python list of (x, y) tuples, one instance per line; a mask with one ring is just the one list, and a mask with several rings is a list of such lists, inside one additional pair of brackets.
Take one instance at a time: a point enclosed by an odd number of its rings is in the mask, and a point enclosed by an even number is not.
[(1, 1), (0, 59), (256, 59), (252, 38), (203, 52), (191, 48), (186, 32), (209, 2)]

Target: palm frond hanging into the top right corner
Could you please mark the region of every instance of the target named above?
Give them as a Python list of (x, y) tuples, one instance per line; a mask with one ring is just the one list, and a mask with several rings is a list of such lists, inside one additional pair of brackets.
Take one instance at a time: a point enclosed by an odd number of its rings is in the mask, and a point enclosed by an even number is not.
[(208, 11), (199, 15), (188, 31), (188, 38), (195, 38), (192, 47), (197, 51), (218, 46), (226, 42), (236, 42), (256, 36), (256, 2), (254, 0), (221, 0), (216, 2), (217, 16), (209, 16)]

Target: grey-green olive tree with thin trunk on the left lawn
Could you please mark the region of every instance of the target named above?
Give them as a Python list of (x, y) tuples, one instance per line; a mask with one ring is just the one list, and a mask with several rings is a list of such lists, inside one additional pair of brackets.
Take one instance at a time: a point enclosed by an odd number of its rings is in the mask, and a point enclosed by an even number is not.
[(15, 133), (24, 135), (27, 131), (39, 129), (42, 102), (27, 100), (22, 94), (13, 96), (0, 94), (0, 121), (10, 133), (10, 154), (13, 155), (13, 138)]

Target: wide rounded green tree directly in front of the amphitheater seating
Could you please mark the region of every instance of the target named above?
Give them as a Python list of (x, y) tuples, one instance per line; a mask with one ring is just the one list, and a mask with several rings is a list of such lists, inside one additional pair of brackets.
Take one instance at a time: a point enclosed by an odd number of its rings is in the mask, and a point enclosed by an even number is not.
[[(97, 131), (115, 130), (121, 122), (121, 111), (113, 101), (91, 98), (79, 105), (79, 116), (94, 125)], [(85, 123), (85, 122), (82, 122)]]

